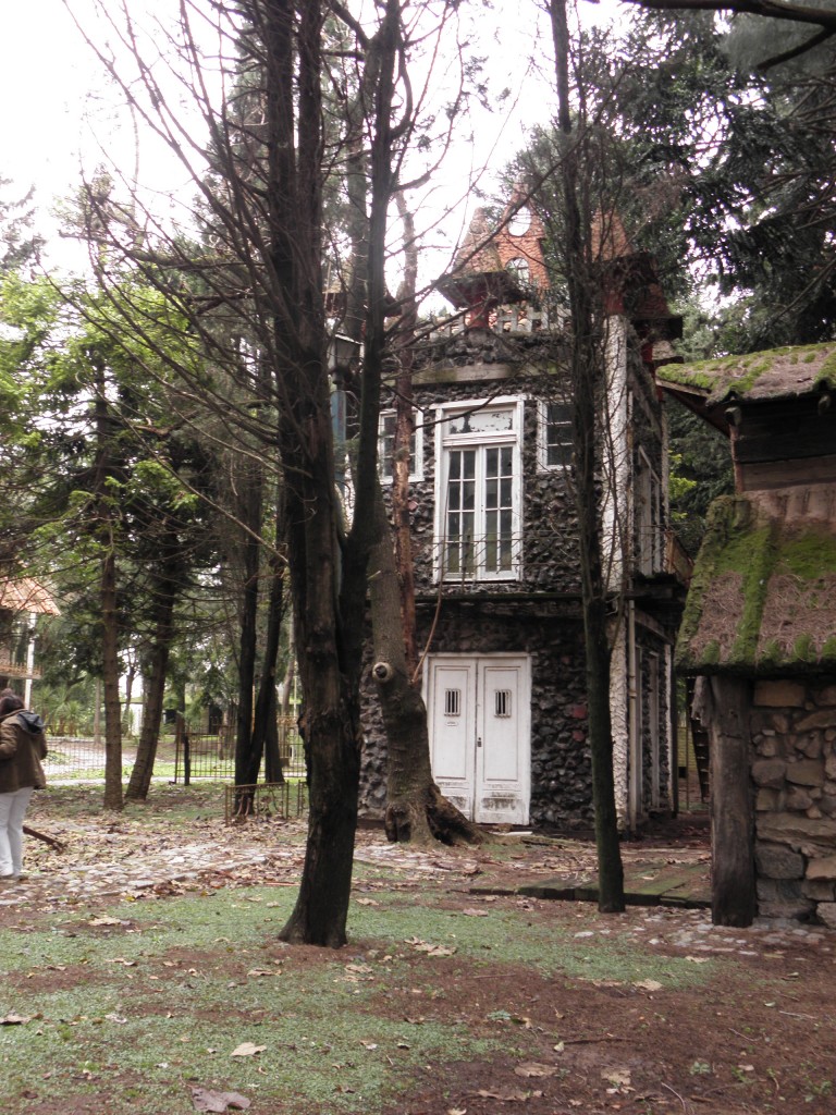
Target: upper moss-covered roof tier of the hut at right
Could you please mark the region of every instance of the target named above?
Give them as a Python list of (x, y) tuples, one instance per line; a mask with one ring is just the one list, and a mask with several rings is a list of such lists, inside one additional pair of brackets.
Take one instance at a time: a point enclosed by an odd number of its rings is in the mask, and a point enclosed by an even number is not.
[(694, 363), (669, 363), (658, 378), (662, 387), (704, 392), (711, 407), (730, 399), (789, 399), (836, 387), (836, 345), (805, 345), (729, 356)]

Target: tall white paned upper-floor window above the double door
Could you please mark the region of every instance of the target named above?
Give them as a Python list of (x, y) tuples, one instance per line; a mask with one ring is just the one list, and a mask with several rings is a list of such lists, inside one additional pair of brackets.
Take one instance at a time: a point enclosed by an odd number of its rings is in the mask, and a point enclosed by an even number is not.
[(458, 404), (438, 414), (436, 552), (445, 580), (519, 573), (519, 399)]

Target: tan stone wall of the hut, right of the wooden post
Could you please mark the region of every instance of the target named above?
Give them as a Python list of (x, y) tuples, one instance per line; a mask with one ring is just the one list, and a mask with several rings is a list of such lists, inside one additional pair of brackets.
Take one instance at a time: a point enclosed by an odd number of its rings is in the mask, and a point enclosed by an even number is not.
[(760, 681), (750, 729), (758, 911), (836, 929), (836, 683)]

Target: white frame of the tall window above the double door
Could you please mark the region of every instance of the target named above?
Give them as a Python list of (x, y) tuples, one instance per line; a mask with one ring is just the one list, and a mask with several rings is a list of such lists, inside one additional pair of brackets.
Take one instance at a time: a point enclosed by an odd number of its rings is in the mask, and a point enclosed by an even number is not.
[[(511, 429), (450, 433), (450, 423), (465, 414), (484, 414), (490, 410), (507, 411)], [(467, 399), (446, 403), (436, 408), (436, 511), (435, 511), (435, 576), (445, 582), (516, 581), (522, 575), (523, 552), (523, 419), (524, 401), (519, 396), (500, 396), (493, 399)], [(451, 453), (460, 449), (511, 448), (511, 563), (507, 569), (486, 568), (485, 541), (486, 505), (485, 453), (477, 456), (474, 501), (475, 564), (472, 570), (450, 570), (448, 561), (448, 491)]]

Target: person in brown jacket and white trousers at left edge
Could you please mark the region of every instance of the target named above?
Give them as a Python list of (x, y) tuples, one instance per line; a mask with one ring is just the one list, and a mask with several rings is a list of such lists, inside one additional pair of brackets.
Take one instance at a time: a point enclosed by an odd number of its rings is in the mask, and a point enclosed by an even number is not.
[(43, 789), (43, 721), (11, 689), (0, 690), (0, 886), (23, 870), (23, 817), (33, 789)]

